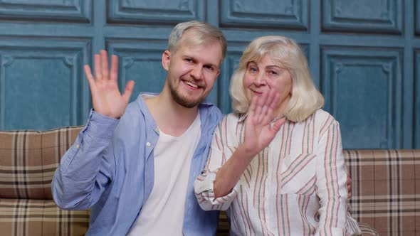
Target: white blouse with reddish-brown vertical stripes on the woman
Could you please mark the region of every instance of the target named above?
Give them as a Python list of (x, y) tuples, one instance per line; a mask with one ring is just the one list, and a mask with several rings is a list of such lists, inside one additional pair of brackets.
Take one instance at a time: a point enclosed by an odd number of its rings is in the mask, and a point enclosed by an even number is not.
[(231, 235), (352, 235), (340, 127), (322, 109), (285, 122), (243, 172), (231, 193), (214, 198), (218, 169), (243, 141), (246, 116), (228, 114), (216, 128), (209, 159), (194, 183), (204, 210), (227, 210)]

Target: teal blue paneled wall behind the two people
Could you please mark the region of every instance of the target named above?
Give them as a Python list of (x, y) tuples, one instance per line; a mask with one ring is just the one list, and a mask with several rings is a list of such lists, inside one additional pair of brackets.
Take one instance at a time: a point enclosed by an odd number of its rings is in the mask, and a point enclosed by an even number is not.
[(172, 27), (201, 20), (229, 48), (208, 97), (230, 112), (229, 79), (258, 36), (294, 38), (308, 56), (325, 109), (347, 149), (420, 148), (418, 0), (79, 0), (0, 2), (0, 129), (84, 124), (83, 64), (106, 48), (120, 57), (132, 100), (164, 84), (161, 55)]

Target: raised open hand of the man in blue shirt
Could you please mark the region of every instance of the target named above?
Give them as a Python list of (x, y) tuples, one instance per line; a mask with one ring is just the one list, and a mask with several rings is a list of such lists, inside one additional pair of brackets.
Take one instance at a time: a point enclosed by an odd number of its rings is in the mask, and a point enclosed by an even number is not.
[(85, 75), (89, 82), (95, 112), (119, 119), (130, 101), (135, 82), (132, 80), (127, 82), (124, 94), (121, 95), (117, 84), (117, 56), (112, 55), (111, 69), (109, 69), (107, 51), (100, 50), (100, 55), (95, 54), (95, 77), (89, 65), (85, 65)]

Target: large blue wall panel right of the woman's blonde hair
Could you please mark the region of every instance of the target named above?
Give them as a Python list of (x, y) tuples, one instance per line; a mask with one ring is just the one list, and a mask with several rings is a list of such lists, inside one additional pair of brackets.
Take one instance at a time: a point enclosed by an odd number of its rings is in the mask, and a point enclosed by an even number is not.
[(325, 109), (341, 124), (345, 149), (400, 148), (402, 50), (321, 48)]

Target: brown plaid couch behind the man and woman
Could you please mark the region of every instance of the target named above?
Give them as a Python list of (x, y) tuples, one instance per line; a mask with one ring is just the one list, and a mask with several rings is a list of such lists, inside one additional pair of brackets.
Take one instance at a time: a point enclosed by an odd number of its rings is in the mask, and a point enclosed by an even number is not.
[[(51, 180), (82, 127), (0, 132), (0, 235), (84, 235), (89, 211), (56, 207)], [(365, 235), (420, 235), (420, 150), (347, 150), (350, 200)], [(417, 215), (416, 215), (417, 214)], [(224, 213), (219, 235), (227, 235)], [(369, 227), (370, 226), (370, 227)]]

